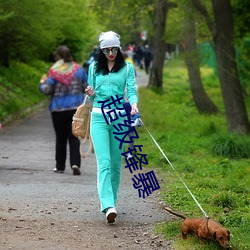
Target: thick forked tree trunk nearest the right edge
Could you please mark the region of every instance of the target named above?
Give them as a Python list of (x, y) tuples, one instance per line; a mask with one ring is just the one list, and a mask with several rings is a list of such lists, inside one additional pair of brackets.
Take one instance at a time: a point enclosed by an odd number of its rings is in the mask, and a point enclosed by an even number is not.
[(212, 0), (214, 21), (200, 0), (191, 1), (204, 16), (213, 37), (228, 130), (249, 134), (250, 123), (236, 64), (230, 0)]

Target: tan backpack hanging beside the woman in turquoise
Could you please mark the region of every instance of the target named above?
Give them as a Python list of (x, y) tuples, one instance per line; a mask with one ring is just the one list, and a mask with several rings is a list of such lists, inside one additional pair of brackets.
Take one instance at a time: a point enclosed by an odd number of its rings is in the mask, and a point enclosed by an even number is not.
[[(92, 153), (93, 144), (90, 138), (90, 112), (92, 110), (92, 103), (86, 103), (88, 96), (86, 95), (83, 103), (76, 109), (72, 118), (72, 134), (80, 140), (80, 155), (85, 158), (90, 151)], [(85, 142), (89, 140), (89, 149), (86, 153), (83, 152)]]

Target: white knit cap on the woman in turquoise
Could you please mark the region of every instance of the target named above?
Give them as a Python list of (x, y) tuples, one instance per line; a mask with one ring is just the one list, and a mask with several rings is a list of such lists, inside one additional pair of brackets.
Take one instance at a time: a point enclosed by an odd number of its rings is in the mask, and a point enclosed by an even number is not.
[(100, 49), (119, 47), (121, 48), (120, 36), (113, 31), (103, 32), (99, 36)]

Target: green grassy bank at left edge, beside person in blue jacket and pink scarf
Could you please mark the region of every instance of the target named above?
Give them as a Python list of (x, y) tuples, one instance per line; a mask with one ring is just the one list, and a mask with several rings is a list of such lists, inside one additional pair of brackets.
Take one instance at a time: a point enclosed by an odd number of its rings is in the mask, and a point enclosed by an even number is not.
[(9, 69), (0, 67), (0, 122), (10, 116), (20, 117), (21, 111), (34, 107), (46, 97), (38, 90), (42, 74), (48, 65), (33, 62), (30, 65), (12, 62)]

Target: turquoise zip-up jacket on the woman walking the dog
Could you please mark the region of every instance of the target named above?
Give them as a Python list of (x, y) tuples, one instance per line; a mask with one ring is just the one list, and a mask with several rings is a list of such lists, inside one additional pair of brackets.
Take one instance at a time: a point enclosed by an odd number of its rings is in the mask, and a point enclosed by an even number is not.
[[(122, 97), (123, 100), (116, 107), (122, 108), (122, 104), (125, 103), (125, 93), (131, 105), (138, 102), (135, 69), (131, 63), (126, 62), (126, 66), (118, 72), (110, 72), (107, 75), (95, 73), (94, 65), (95, 62), (90, 65), (88, 71), (88, 84), (95, 90), (95, 97), (90, 98), (93, 100), (93, 107), (100, 108), (102, 103), (98, 103), (98, 101), (111, 100), (111, 96), (115, 98), (117, 95)], [(112, 106), (112, 108), (115, 108), (115, 106)]]

